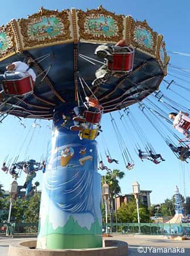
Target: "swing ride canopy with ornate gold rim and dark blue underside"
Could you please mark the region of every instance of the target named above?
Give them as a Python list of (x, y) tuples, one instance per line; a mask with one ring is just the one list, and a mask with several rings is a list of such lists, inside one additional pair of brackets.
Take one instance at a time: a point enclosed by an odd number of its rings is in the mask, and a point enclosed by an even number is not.
[[(133, 70), (111, 76), (105, 84), (92, 86), (104, 60), (94, 55), (101, 44), (125, 40), (134, 48)], [(34, 61), (34, 89), (10, 97), (1, 113), (19, 117), (51, 119), (53, 110), (95, 95), (104, 113), (125, 108), (159, 88), (167, 75), (163, 36), (131, 16), (116, 15), (102, 6), (97, 10), (51, 11), (43, 7), (27, 19), (11, 20), (0, 27), (0, 71), (14, 61)], [(82, 85), (81, 85), (82, 82)]]

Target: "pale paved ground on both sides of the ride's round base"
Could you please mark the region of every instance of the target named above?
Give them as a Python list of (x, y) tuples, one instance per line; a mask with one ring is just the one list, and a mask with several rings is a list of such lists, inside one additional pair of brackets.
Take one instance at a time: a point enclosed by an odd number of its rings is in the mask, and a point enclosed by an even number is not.
[[(35, 238), (7, 238), (7, 237), (0, 237), (0, 256), (7, 256), (9, 245), (12, 245), (13, 243), (18, 243), (21, 241), (27, 241), (27, 240), (33, 240)], [(115, 236), (113, 238), (114, 240), (122, 240), (128, 243), (129, 245), (129, 256), (138, 256), (138, 255), (154, 255), (154, 256), (189, 256), (190, 255), (190, 241), (172, 241), (168, 240), (165, 237), (144, 237), (144, 236), (134, 236), (134, 237), (127, 237), (127, 236)], [(174, 249), (176, 247), (184, 248), (184, 253), (155, 253), (154, 251), (149, 252), (147, 249), (146, 252), (146, 246), (149, 248), (152, 247), (152, 250), (155, 250), (153, 248), (171, 248)], [(139, 250), (144, 250), (142, 253), (138, 253), (138, 247), (141, 247)], [(143, 247), (143, 249), (142, 249)]]

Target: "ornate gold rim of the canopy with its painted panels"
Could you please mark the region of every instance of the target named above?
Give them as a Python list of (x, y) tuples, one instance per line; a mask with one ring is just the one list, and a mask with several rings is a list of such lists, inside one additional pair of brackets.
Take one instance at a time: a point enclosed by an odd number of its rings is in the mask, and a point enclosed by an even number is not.
[(71, 11), (60, 12), (41, 7), (38, 13), (27, 19), (11, 20), (0, 27), (0, 60), (25, 50), (72, 42), (77, 44), (79, 40), (115, 44), (121, 39), (157, 59), (164, 75), (167, 75), (170, 57), (167, 56), (163, 36), (154, 32), (146, 20), (135, 22), (131, 16), (116, 15), (102, 6), (86, 11), (72, 8)]

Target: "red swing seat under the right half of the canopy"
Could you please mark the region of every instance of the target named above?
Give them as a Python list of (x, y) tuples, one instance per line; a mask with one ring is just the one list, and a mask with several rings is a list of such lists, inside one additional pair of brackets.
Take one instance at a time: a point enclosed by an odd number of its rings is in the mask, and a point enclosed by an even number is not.
[(127, 49), (123, 52), (113, 52), (112, 60), (108, 60), (108, 71), (119, 72), (119, 73), (129, 73), (133, 70), (134, 62), (134, 48), (132, 47), (122, 47)]

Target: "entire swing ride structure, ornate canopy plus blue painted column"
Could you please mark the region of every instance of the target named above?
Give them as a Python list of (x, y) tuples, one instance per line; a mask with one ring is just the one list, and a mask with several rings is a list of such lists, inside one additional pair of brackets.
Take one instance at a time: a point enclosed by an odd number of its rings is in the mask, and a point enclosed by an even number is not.
[[(34, 63), (37, 76), (26, 93), (20, 88), (24, 86), (22, 81), (19, 90), (10, 88), (11, 82), (3, 83), (1, 113), (5, 117), (12, 114), (53, 119), (37, 247), (101, 247), (97, 143), (90, 136), (81, 136), (81, 140), (80, 131), (70, 130), (72, 110), (91, 96), (104, 113), (110, 113), (158, 90), (170, 60), (163, 36), (154, 32), (146, 20), (135, 22), (131, 16), (116, 15), (102, 6), (61, 12), (42, 7), (27, 19), (12, 19), (0, 27), (0, 39), (0, 71), (5, 72), (8, 63), (28, 59)], [(113, 56), (112, 62), (94, 55), (98, 46), (114, 47), (119, 40), (125, 42), (127, 54), (132, 57), (122, 57), (126, 52), (121, 48), (117, 48), (121, 52)], [(97, 71), (102, 70), (107, 79), (100, 84), (93, 82)]]

